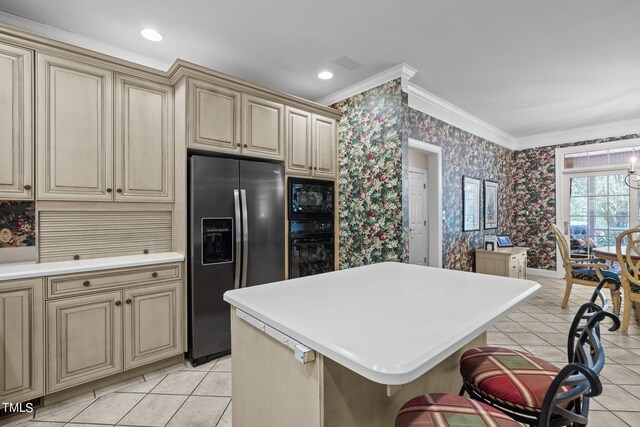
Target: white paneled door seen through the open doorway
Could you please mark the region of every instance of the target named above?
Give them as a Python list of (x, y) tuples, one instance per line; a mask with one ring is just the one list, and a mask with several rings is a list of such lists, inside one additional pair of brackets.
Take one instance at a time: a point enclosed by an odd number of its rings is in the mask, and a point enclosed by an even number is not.
[(428, 265), (427, 171), (409, 170), (409, 262)]

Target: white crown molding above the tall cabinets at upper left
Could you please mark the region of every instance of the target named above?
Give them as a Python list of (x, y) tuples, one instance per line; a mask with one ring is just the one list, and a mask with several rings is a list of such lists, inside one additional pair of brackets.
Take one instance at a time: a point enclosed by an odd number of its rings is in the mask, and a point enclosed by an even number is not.
[(30, 31), (39, 36), (45, 36), (53, 40), (68, 43), (73, 46), (82, 47), (115, 58), (124, 59), (136, 64), (145, 65), (156, 70), (166, 71), (171, 64), (158, 61), (144, 55), (120, 49), (106, 43), (101, 43), (89, 37), (81, 36), (60, 28), (52, 27), (41, 22), (32, 21), (30, 19), (21, 18), (10, 13), (0, 11), (0, 23), (16, 27), (18, 29)]

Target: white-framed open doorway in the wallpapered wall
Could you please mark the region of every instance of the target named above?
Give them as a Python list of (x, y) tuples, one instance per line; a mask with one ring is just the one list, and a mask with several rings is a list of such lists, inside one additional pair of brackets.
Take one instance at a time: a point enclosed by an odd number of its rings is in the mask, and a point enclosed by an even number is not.
[(409, 262), (442, 267), (442, 148), (409, 138)]

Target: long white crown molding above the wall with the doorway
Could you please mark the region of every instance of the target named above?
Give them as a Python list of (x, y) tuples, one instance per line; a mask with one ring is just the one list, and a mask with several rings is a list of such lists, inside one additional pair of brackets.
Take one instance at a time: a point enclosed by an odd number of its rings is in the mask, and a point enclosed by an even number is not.
[(407, 84), (406, 91), (409, 95), (409, 107), (510, 150), (517, 149), (517, 138), (480, 120), (431, 92), (413, 83)]

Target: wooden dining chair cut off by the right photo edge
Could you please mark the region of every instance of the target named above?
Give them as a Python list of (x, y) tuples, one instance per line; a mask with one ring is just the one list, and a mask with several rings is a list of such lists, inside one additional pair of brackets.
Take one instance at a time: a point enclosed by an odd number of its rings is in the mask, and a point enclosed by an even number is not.
[[(622, 250), (624, 240), (626, 249)], [(624, 298), (624, 312), (622, 314), (623, 333), (629, 329), (632, 308), (636, 309), (636, 320), (640, 321), (640, 225), (623, 231), (616, 238), (616, 255), (620, 264), (622, 282), (622, 296)]]

